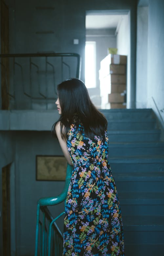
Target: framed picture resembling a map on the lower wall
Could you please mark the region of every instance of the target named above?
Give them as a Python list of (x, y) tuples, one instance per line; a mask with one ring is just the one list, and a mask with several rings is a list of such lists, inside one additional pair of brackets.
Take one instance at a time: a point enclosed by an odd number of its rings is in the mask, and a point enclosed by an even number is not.
[(66, 168), (64, 156), (36, 155), (36, 180), (65, 180)]

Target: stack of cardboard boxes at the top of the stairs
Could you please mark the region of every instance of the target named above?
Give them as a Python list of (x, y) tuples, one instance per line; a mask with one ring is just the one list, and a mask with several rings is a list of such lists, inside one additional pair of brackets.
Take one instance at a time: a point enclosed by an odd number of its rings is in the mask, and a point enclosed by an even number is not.
[(126, 108), (127, 56), (109, 54), (100, 64), (99, 79), (102, 108)]

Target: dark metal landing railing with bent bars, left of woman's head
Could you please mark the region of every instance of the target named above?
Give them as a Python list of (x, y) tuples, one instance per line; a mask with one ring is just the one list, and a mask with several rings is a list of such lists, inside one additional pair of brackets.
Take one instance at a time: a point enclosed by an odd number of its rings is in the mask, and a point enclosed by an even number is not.
[(57, 98), (57, 84), (81, 75), (77, 53), (0, 54), (0, 64), (1, 83), (14, 102), (10, 109), (32, 109), (34, 100), (48, 109)]

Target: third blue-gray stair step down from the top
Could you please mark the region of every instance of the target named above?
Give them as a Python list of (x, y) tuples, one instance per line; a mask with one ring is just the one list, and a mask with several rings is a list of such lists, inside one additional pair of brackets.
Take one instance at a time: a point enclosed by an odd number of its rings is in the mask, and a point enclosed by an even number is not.
[(108, 131), (109, 142), (157, 142), (160, 130)]

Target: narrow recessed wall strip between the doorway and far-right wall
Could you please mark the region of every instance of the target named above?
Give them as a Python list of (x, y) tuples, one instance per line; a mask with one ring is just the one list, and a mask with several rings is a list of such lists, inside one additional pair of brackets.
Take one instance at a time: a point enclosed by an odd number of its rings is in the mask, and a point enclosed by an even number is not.
[(137, 9), (136, 107), (147, 107), (148, 6)]

